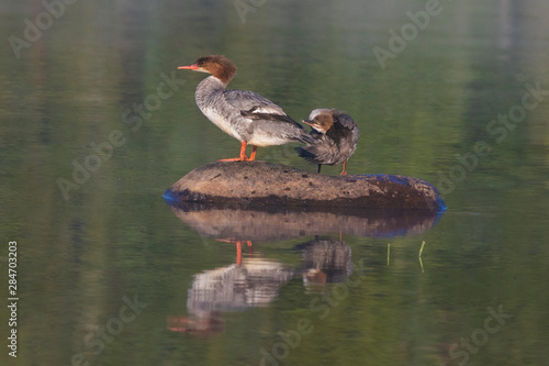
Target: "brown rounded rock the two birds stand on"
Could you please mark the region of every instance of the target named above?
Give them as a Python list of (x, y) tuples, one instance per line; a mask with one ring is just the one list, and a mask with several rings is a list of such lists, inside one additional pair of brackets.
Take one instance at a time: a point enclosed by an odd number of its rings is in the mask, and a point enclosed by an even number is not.
[(267, 162), (217, 162), (199, 167), (165, 193), (172, 203), (397, 209), (439, 212), (446, 204), (429, 182), (396, 175), (332, 177)]

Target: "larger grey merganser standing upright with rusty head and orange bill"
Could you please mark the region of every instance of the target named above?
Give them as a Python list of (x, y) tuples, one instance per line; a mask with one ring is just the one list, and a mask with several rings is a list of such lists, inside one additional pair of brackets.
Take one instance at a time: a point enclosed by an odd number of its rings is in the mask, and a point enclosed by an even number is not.
[[(178, 69), (212, 74), (197, 87), (197, 106), (216, 126), (240, 141), (240, 155), (220, 162), (255, 160), (257, 146), (312, 142), (303, 127), (270, 100), (251, 91), (225, 89), (236, 75), (235, 65), (225, 56), (203, 56)], [(249, 157), (247, 144), (254, 146)]]

